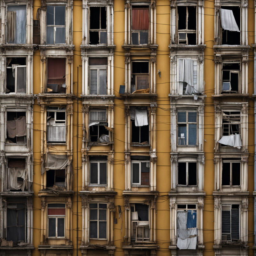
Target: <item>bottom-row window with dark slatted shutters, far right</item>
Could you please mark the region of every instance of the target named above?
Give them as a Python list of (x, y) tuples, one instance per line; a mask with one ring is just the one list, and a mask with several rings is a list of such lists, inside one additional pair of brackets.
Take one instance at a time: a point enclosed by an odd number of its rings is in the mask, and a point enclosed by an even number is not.
[(222, 205), (221, 241), (239, 239), (239, 204)]

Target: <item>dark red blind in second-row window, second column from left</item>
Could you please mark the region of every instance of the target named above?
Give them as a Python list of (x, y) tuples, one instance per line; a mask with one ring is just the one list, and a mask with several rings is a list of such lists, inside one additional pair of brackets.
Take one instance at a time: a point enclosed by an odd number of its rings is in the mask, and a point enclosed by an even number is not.
[(66, 59), (48, 58), (47, 60), (48, 80), (47, 84), (63, 84), (66, 81)]

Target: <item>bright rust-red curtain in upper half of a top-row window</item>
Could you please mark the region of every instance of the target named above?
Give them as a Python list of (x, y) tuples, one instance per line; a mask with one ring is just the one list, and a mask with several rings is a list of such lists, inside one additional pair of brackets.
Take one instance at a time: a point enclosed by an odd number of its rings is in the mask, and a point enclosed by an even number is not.
[(132, 8), (132, 29), (133, 30), (148, 30), (148, 8)]

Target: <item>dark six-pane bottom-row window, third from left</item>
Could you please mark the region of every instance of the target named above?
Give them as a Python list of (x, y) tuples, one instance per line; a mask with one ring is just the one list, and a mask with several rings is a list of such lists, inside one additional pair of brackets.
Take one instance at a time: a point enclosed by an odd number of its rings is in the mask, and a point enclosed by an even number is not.
[(107, 204), (91, 203), (90, 238), (107, 238)]

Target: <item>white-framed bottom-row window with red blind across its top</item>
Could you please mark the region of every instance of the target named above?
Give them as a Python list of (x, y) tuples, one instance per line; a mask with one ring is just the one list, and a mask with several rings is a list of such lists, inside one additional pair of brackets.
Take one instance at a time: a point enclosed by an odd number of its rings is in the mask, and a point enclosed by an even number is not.
[(65, 237), (65, 204), (48, 204), (48, 237)]

